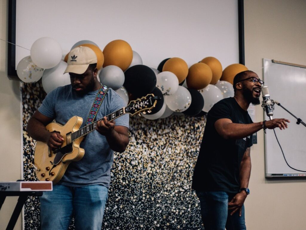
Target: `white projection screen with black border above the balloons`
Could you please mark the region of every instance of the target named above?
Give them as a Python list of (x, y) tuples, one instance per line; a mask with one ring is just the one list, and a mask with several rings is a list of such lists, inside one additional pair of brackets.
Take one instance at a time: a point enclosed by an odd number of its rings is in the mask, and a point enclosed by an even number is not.
[[(207, 56), (222, 67), (239, 62), (237, 0), (17, 0), (16, 44), (30, 49), (40, 37), (57, 40), (65, 56), (80, 40), (101, 50), (127, 41), (143, 64), (171, 57), (190, 66)], [(16, 47), (16, 67), (30, 51)]]

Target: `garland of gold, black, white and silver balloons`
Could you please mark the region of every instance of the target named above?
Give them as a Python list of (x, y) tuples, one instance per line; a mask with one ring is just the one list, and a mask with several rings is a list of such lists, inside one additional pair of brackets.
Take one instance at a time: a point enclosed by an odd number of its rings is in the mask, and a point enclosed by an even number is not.
[[(90, 40), (76, 42), (78, 46), (91, 48), (98, 59), (99, 81), (115, 90), (126, 102), (150, 93), (162, 96), (151, 113), (141, 114), (155, 120), (172, 113), (203, 116), (219, 100), (233, 97), (233, 78), (248, 70), (242, 64), (232, 64), (222, 70), (215, 57), (205, 57), (188, 68), (187, 63), (172, 57), (160, 62), (157, 69), (143, 64), (141, 56), (124, 40), (108, 43), (103, 51)], [(60, 44), (50, 37), (37, 39), (31, 47), (31, 55), (17, 65), (17, 75), (25, 83), (42, 79), (48, 94), (59, 86), (70, 84), (67, 67), (68, 54), (62, 59)]]

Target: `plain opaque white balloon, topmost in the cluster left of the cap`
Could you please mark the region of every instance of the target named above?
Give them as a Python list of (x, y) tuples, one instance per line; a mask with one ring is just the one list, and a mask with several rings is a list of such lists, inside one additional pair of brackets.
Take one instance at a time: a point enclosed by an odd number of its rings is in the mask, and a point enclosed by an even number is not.
[(30, 53), (33, 62), (44, 69), (55, 67), (62, 59), (62, 48), (60, 44), (51, 37), (37, 39), (32, 44)]

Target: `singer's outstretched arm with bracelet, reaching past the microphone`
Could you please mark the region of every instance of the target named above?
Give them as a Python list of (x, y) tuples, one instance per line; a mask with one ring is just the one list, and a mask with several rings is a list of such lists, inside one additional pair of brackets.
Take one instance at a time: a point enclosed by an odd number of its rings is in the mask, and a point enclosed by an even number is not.
[[(266, 128), (288, 128), (286, 122), (290, 122), (285, 118), (275, 118), (269, 121), (266, 121)], [(252, 135), (253, 133), (259, 131), (263, 128), (263, 122), (256, 122), (252, 124), (238, 124), (233, 123), (228, 118), (222, 118), (215, 122), (215, 128), (220, 136), (224, 139), (241, 139), (246, 136)]]

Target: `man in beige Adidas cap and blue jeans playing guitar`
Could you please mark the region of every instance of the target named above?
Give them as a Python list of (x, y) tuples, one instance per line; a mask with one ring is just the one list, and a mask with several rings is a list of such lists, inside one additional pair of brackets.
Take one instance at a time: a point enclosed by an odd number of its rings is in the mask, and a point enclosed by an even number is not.
[[(47, 94), (42, 105), (28, 121), (29, 135), (45, 142), (51, 150), (59, 148), (64, 137), (59, 132), (49, 132), (46, 125), (55, 119), (59, 124), (73, 116), (86, 123), (92, 103), (101, 90), (97, 79), (97, 57), (88, 47), (76, 47), (69, 53), (68, 66), (71, 85), (58, 87)], [(101, 88), (101, 89), (100, 89)], [(123, 152), (129, 143), (129, 115), (108, 121), (110, 114), (125, 106), (123, 99), (108, 89), (101, 103), (95, 129), (80, 141), (80, 151), (85, 154), (72, 162), (65, 174), (40, 197), (41, 229), (68, 229), (72, 216), (76, 229), (101, 229), (103, 213), (110, 185), (110, 169), (114, 151)], [(47, 180), (47, 178), (46, 178)]]

